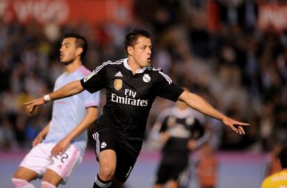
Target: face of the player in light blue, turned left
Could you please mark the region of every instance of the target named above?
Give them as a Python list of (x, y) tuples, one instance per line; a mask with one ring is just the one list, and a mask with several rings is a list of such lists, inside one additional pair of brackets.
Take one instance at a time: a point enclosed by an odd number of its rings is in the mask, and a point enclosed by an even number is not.
[(64, 38), (62, 41), (62, 46), (60, 48), (60, 62), (64, 64), (69, 64), (76, 59), (76, 38), (68, 37)]

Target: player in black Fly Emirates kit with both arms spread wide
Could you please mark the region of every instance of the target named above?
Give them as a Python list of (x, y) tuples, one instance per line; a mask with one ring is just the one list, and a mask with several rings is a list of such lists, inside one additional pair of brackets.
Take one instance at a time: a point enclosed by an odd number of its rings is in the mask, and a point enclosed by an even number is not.
[(128, 58), (107, 61), (82, 80), (65, 85), (55, 92), (24, 103), (32, 114), (37, 105), (62, 99), (87, 89), (106, 89), (107, 102), (94, 126), (94, 142), (99, 171), (95, 187), (122, 187), (130, 176), (141, 151), (148, 113), (156, 96), (183, 101), (191, 108), (222, 121), (239, 134), (245, 134), (241, 123), (226, 117), (200, 96), (186, 92), (173, 83), (161, 69), (150, 65), (150, 33), (137, 29), (125, 36)]

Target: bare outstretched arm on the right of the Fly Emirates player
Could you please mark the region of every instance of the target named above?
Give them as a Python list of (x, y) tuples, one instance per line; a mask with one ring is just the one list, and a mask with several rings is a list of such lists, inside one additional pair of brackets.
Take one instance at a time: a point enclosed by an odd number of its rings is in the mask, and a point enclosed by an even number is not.
[(234, 119), (231, 119), (225, 116), (225, 114), (218, 112), (218, 110), (213, 108), (209, 103), (207, 103), (207, 101), (205, 101), (205, 99), (202, 99), (197, 94), (184, 91), (180, 95), (179, 100), (186, 103), (191, 108), (198, 110), (199, 112), (202, 112), (203, 114), (206, 114), (210, 117), (214, 117), (215, 119), (223, 121), (223, 123), (226, 126), (229, 126), (229, 128), (231, 128), (236, 133), (239, 133), (241, 135), (245, 134), (245, 131), (243, 130), (242, 126), (249, 126), (249, 123), (243, 123), (240, 121), (236, 121)]

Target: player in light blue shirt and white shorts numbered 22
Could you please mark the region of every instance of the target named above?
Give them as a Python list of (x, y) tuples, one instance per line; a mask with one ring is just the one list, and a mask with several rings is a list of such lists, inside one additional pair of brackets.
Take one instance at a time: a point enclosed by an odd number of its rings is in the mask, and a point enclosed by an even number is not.
[[(54, 90), (90, 73), (81, 59), (87, 42), (77, 34), (64, 36), (60, 62), (66, 65), (55, 82)], [(33, 141), (33, 148), (24, 157), (12, 178), (14, 187), (33, 188), (31, 180), (42, 178), (42, 188), (65, 184), (73, 169), (82, 161), (87, 147), (87, 128), (98, 116), (99, 93), (81, 92), (53, 103), (51, 121)], [(48, 100), (49, 99), (45, 99)]]

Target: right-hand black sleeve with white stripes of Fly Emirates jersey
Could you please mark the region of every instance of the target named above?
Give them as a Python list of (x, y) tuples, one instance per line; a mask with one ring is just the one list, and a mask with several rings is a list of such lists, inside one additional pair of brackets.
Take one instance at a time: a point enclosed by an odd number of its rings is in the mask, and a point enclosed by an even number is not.
[(184, 89), (173, 83), (171, 78), (164, 74), (164, 72), (158, 71), (155, 91), (157, 96), (161, 96), (164, 99), (171, 101), (177, 101), (182, 92), (184, 92)]

